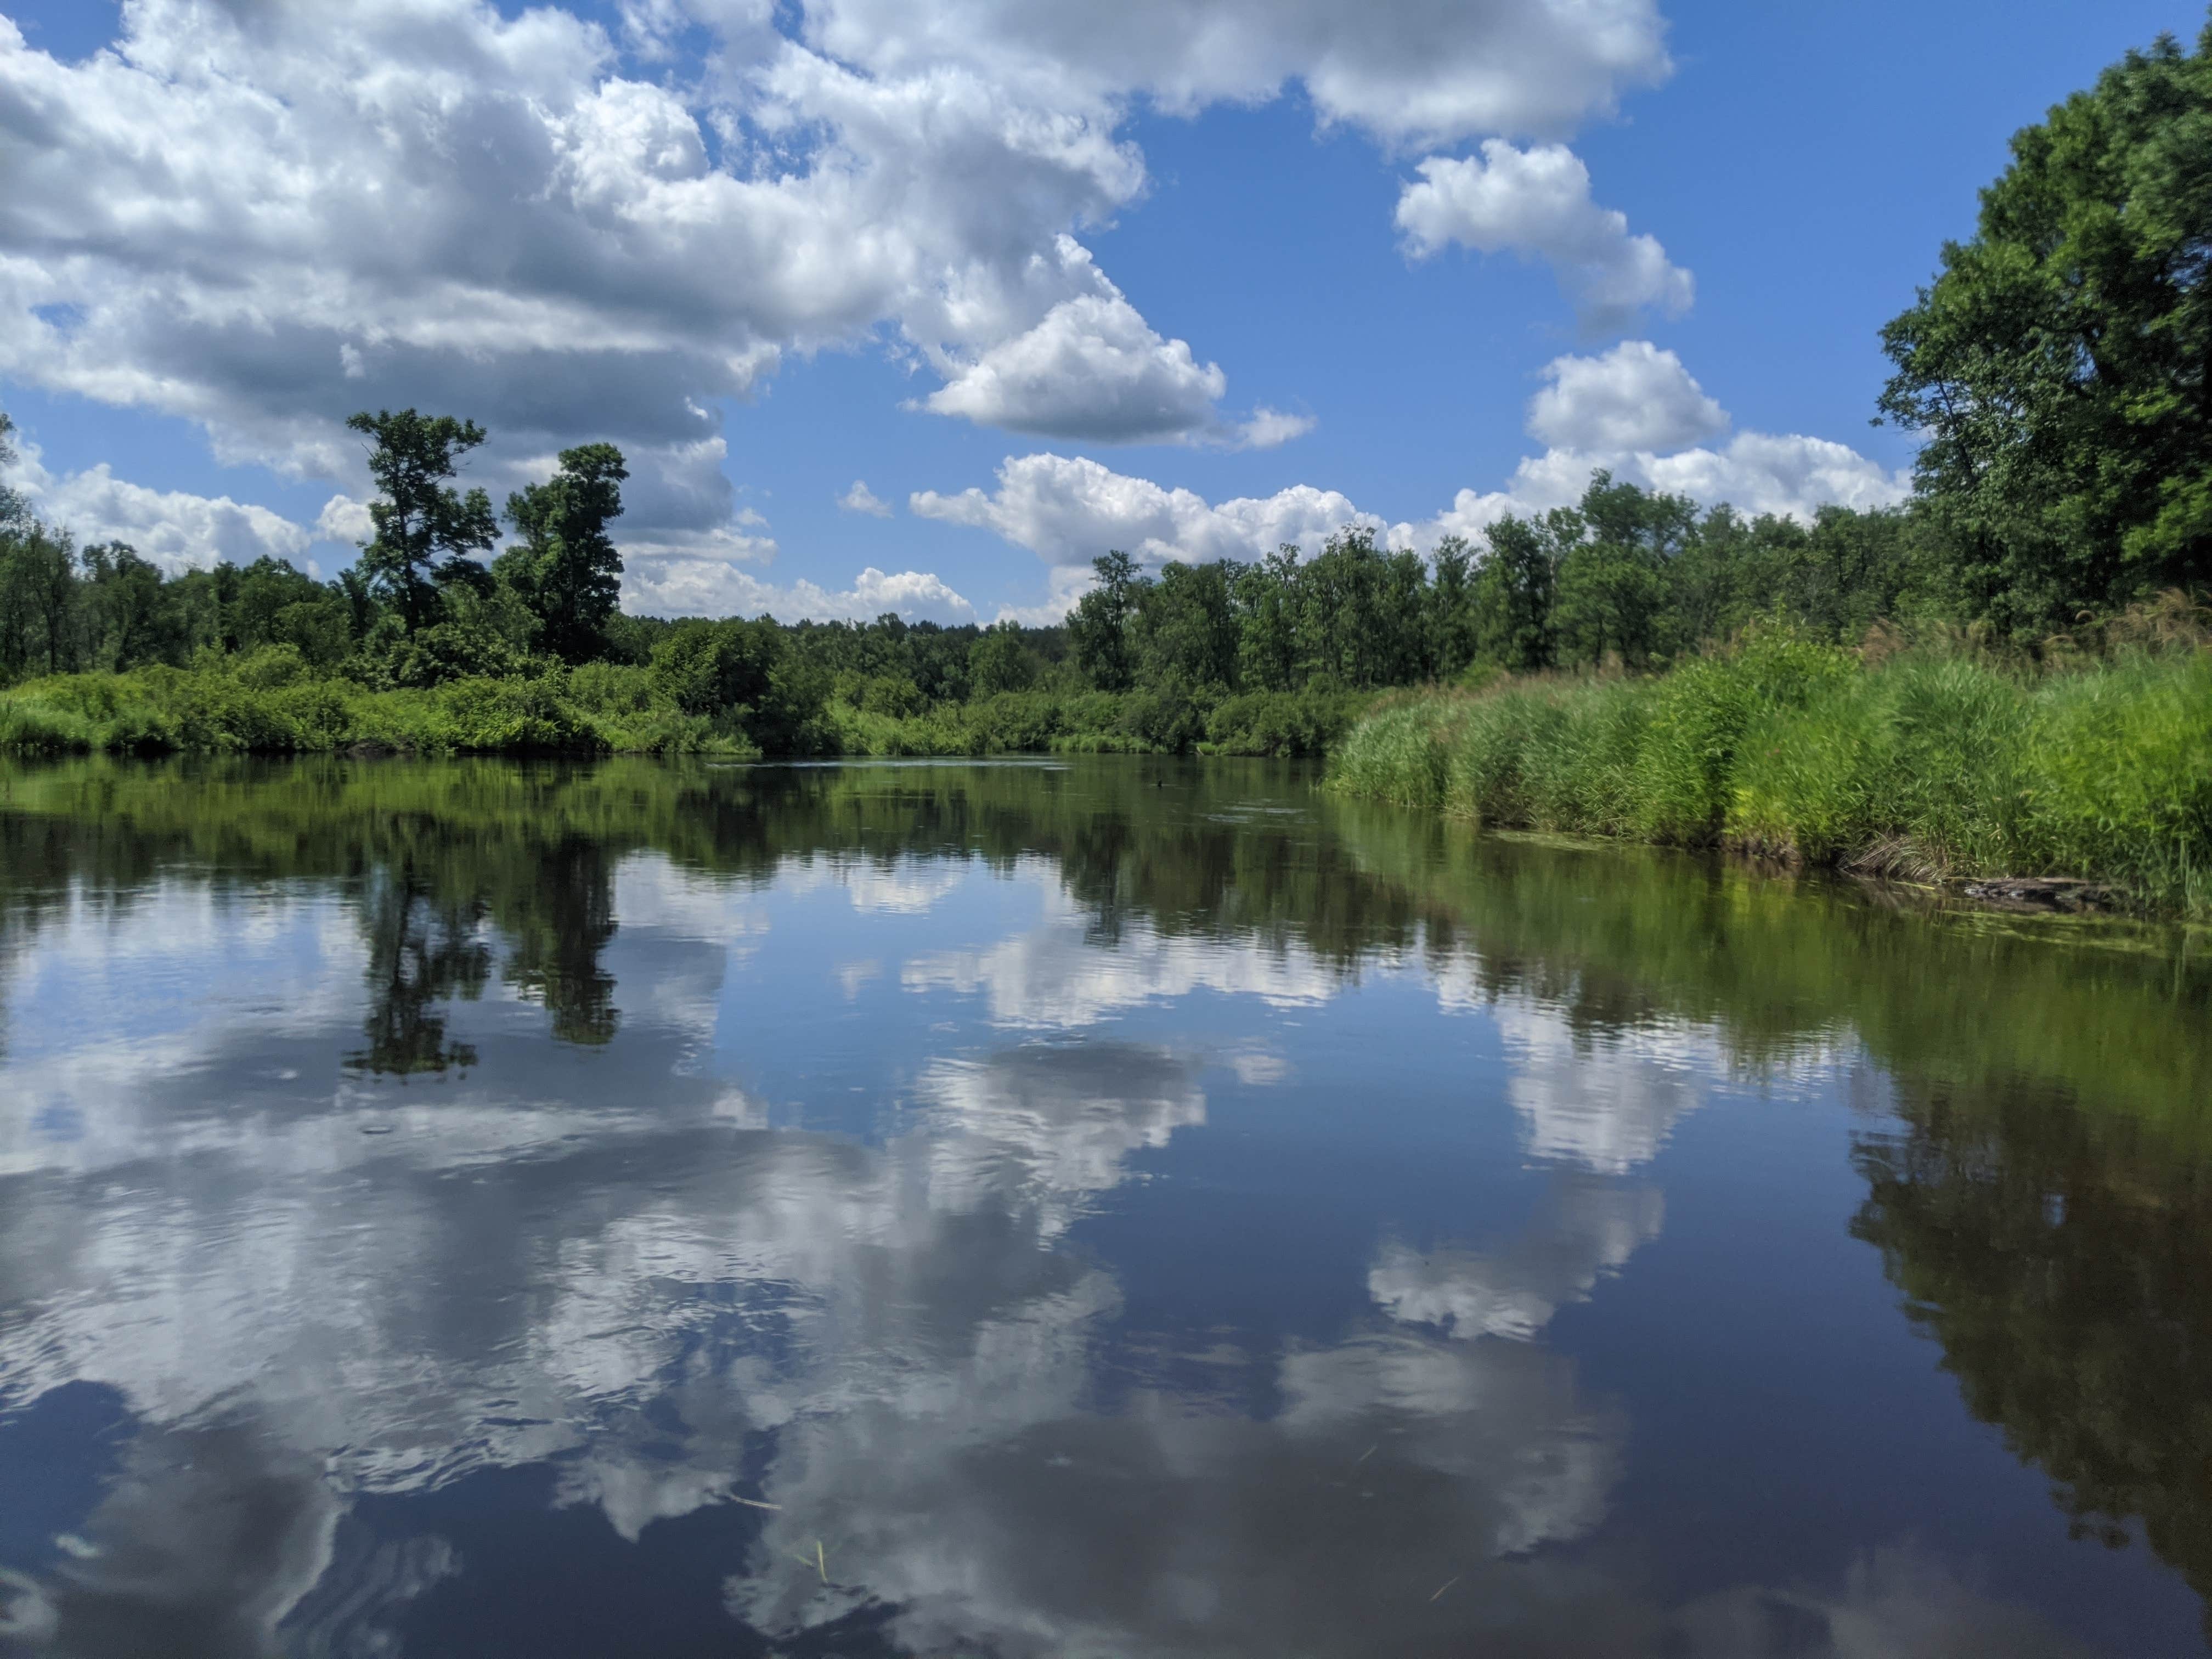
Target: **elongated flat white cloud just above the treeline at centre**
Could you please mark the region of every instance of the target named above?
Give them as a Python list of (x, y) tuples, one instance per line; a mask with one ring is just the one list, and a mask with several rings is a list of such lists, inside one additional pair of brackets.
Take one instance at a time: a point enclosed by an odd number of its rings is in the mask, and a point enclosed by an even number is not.
[(925, 489), (907, 504), (920, 518), (993, 531), (1055, 566), (1086, 566), (1108, 549), (1141, 560), (1250, 560), (1283, 542), (1318, 544), (1347, 524), (1380, 526), (1334, 489), (1292, 484), (1208, 504), (1088, 456), (1051, 453), (1002, 462), (993, 493)]

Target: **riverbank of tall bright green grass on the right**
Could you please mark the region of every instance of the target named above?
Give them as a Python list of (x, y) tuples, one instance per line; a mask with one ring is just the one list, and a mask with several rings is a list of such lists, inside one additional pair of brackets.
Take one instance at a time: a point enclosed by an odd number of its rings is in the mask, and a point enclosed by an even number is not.
[(1781, 635), (1655, 679), (1371, 712), (1332, 787), (1486, 827), (1721, 845), (1916, 880), (2077, 876), (2212, 916), (2212, 650), (1869, 661)]

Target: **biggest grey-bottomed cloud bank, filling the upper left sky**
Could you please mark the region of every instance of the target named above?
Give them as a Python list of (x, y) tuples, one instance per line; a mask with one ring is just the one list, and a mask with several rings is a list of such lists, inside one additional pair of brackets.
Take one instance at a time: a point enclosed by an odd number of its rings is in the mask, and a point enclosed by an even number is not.
[(80, 64), (0, 24), (27, 135), (0, 374), (338, 480), (356, 407), (484, 420), (493, 484), (608, 436), (633, 522), (706, 531), (732, 502), (710, 400), (883, 323), (925, 354), (1022, 334), (1091, 288), (1055, 239), (1144, 184), (1110, 108), (714, 33), (686, 102), (560, 9), (146, 0)]

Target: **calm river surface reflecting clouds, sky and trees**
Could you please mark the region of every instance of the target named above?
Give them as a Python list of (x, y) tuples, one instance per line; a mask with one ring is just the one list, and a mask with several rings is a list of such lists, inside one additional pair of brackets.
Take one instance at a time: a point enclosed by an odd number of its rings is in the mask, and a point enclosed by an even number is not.
[(2203, 956), (1241, 763), (0, 774), (0, 1650), (2205, 1652)]

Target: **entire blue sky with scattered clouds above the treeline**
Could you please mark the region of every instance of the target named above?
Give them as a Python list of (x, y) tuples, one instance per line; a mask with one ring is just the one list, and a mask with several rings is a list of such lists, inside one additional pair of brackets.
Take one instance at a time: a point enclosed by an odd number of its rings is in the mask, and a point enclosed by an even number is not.
[(630, 460), (624, 604), (1055, 619), (1595, 467), (1876, 507), (1880, 325), (2197, 0), (0, 0), (13, 487), (332, 575), (356, 409)]

